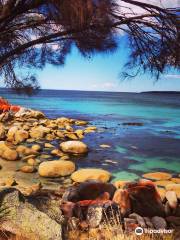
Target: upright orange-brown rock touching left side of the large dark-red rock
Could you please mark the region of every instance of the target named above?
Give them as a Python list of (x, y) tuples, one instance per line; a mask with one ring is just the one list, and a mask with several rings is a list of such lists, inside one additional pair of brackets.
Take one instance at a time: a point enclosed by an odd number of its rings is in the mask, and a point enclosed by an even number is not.
[(116, 190), (113, 201), (119, 205), (121, 214), (123, 216), (128, 216), (131, 213), (129, 193), (126, 189)]

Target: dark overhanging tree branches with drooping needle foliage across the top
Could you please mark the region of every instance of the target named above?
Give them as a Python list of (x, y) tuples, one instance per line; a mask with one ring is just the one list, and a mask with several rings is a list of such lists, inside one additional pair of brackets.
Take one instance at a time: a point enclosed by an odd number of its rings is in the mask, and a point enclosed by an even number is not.
[(64, 64), (74, 45), (91, 57), (114, 51), (121, 35), (131, 49), (124, 77), (180, 66), (179, 9), (148, 2), (1, 0), (0, 33), (1, 79), (12, 88), (38, 88), (36, 69)]

